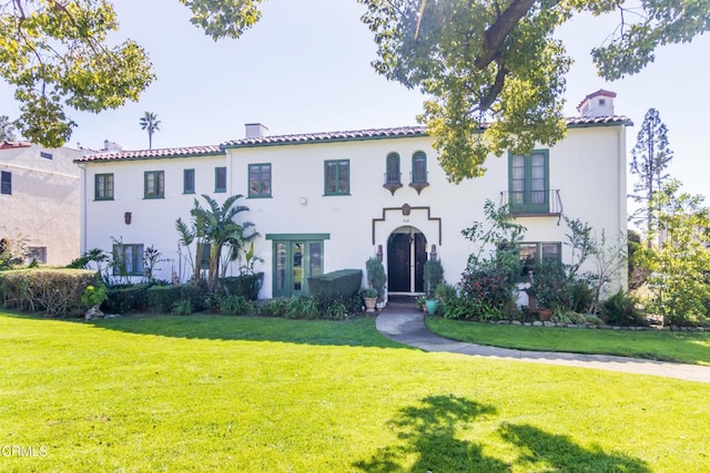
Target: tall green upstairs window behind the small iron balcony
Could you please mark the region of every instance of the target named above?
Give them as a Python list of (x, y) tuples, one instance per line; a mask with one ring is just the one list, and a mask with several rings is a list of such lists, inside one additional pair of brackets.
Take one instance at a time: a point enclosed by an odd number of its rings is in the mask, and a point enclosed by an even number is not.
[(508, 195), (515, 214), (549, 212), (549, 153), (534, 151), (529, 155), (508, 157)]

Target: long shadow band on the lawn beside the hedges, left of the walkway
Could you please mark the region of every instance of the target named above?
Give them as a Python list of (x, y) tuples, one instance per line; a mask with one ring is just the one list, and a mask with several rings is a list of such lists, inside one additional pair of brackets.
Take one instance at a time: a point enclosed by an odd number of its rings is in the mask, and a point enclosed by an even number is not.
[(227, 317), (195, 313), (128, 315), (85, 322), (81, 319), (53, 319), (37, 315), (2, 311), (4, 317), (52, 320), (126, 333), (151, 335), (185, 339), (281, 341), (316, 346), (352, 346), (406, 348), (382, 336), (375, 318), (358, 316), (349, 320), (293, 320), (281, 318)]

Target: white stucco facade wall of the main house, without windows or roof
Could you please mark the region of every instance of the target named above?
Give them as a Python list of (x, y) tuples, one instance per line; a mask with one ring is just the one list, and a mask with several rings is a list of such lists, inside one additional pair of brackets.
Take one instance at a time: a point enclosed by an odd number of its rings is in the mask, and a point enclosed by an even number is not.
[[(420, 195), (408, 186), (412, 156), (427, 155), (429, 186)], [(386, 156), (400, 156), (404, 186), (394, 195), (383, 188)], [(626, 143), (622, 126), (570, 128), (565, 141), (549, 150), (549, 187), (560, 189), (564, 212), (570, 218), (588, 222), (608, 239), (626, 230)], [(349, 160), (351, 195), (324, 195), (324, 162)], [(264, 258), (257, 269), (266, 273), (263, 297), (272, 295), (272, 241), (267, 234), (328, 234), (324, 241), (324, 270), (365, 267), (365, 260), (383, 246), (387, 260), (387, 239), (398, 227), (412, 226), (427, 240), (427, 250), (436, 245), (448, 282), (456, 282), (474, 250), (460, 230), (484, 219), (486, 199), (496, 204), (508, 191), (508, 157), (491, 156), (485, 177), (458, 185), (447, 182), (437, 166), (428, 137), (398, 137), (335, 143), (290, 144), (230, 148), (226, 156), (90, 162), (85, 165), (87, 215), (84, 249), (111, 249), (112, 238), (126, 244), (154, 245), (168, 261), (158, 277), (170, 279), (174, 269), (185, 279), (189, 273), (178, 263), (178, 217), (189, 218), (194, 195), (182, 194), (184, 168), (196, 169), (196, 194), (209, 193), (217, 202), (232, 194), (247, 195), (250, 164), (271, 163), (272, 197), (245, 198), (250, 207), (240, 214), (255, 224), (262, 237), (256, 255)], [(214, 167), (227, 166), (227, 192), (214, 194)], [(143, 173), (165, 171), (165, 198), (143, 198)], [(115, 198), (93, 200), (97, 173), (114, 173)], [(412, 213), (403, 215), (407, 204)], [(132, 223), (124, 223), (131, 212)], [(373, 243), (373, 222), (375, 240)], [(557, 216), (523, 217), (527, 241), (564, 241), (568, 228)], [(440, 228), (440, 232), (439, 232)], [(564, 259), (569, 249), (562, 246)], [(236, 274), (236, 268), (227, 274)]]

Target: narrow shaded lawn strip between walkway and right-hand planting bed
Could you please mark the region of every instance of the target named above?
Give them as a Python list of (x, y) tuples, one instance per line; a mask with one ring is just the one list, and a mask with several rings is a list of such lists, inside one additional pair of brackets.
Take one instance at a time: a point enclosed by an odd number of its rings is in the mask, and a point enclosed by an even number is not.
[(618, 354), (710, 366), (710, 332), (601, 330), (494, 325), (427, 317), (442, 337), (494, 347)]

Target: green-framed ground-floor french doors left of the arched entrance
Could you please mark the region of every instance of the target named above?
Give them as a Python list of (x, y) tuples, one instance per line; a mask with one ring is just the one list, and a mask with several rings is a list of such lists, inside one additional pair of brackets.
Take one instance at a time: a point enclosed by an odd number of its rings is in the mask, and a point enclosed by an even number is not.
[(273, 251), (273, 297), (307, 295), (308, 277), (323, 274), (323, 240), (274, 239)]

